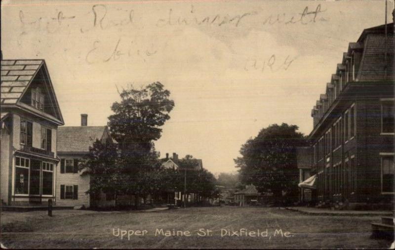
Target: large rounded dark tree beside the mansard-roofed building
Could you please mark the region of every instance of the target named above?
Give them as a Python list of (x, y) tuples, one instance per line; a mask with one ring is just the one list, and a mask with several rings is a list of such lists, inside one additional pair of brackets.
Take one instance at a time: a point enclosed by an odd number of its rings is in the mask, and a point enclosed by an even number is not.
[(241, 146), (235, 159), (244, 184), (254, 184), (260, 192), (273, 192), (277, 202), (297, 199), (298, 168), (296, 147), (304, 145), (304, 136), (296, 125), (270, 125)]

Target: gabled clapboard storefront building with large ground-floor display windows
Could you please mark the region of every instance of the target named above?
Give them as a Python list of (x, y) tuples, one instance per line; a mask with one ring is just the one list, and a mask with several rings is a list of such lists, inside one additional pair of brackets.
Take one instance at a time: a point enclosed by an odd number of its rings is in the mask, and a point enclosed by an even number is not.
[(62, 114), (44, 60), (1, 60), (0, 199), (40, 205), (56, 197)]

